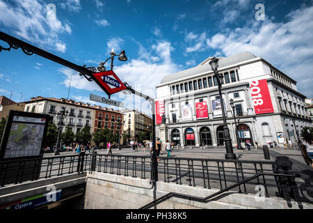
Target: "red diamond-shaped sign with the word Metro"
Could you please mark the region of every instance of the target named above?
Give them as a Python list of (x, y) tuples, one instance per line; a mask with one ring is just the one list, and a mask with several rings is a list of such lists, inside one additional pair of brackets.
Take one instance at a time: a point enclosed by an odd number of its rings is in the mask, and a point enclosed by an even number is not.
[(96, 72), (93, 74), (95, 82), (108, 94), (112, 95), (119, 91), (125, 90), (126, 86), (122, 81), (115, 75), (113, 70), (107, 70), (104, 72)]

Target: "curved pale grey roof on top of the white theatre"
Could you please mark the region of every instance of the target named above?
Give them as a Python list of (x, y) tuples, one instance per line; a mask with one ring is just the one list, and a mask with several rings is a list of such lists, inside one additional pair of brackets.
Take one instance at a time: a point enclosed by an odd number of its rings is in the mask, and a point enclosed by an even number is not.
[[(250, 59), (255, 59), (257, 56), (250, 52), (242, 52), (240, 54), (236, 54), (233, 56), (228, 57), (218, 57), (220, 59), (218, 61), (218, 67), (219, 68), (225, 68), (227, 66), (232, 66), (236, 63), (241, 63), (243, 61), (248, 61)], [(174, 74), (167, 75), (166, 77), (163, 77), (161, 80), (161, 84), (165, 84), (168, 82), (176, 81), (177, 79), (184, 79), (191, 77), (193, 75), (200, 74), (202, 72), (211, 72), (211, 66), (207, 63), (212, 57), (208, 57), (202, 63), (200, 63), (198, 66), (195, 66), (194, 68), (190, 68), (188, 70), (182, 70), (180, 72), (176, 72)]]

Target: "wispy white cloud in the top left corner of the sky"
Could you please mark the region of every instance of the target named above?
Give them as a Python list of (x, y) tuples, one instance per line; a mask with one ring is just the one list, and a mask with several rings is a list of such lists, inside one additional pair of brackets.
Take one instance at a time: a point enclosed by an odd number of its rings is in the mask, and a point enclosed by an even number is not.
[[(0, 24), (9, 27), (17, 37), (49, 49), (60, 43), (58, 34), (72, 33), (69, 24), (62, 23), (45, 3), (36, 0), (15, 0), (12, 4), (0, 0)], [(64, 47), (56, 49), (63, 51)]]

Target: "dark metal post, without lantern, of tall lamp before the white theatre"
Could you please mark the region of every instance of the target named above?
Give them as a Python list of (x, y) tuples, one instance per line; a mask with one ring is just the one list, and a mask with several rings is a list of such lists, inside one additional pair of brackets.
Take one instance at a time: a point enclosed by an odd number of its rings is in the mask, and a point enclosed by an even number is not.
[(218, 71), (214, 71), (216, 76), (216, 81), (218, 82), (218, 94), (220, 95), (220, 106), (222, 107), (222, 114), (223, 114), (223, 123), (224, 123), (224, 141), (225, 141), (225, 147), (226, 147), (226, 154), (225, 159), (226, 160), (236, 160), (236, 154), (234, 154), (234, 151), (232, 149), (232, 139), (230, 138), (230, 130), (227, 127), (226, 122), (226, 116), (224, 111), (224, 102), (223, 102), (223, 96), (222, 96), (222, 86), (220, 84), (220, 79), (218, 78)]

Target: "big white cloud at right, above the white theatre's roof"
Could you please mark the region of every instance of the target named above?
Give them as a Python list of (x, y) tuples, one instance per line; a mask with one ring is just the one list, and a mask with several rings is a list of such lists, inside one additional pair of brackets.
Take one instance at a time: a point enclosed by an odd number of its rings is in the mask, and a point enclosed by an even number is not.
[(312, 97), (313, 6), (294, 10), (287, 22), (255, 22), (217, 33), (207, 45), (226, 56), (249, 51), (298, 81), (298, 91)]

